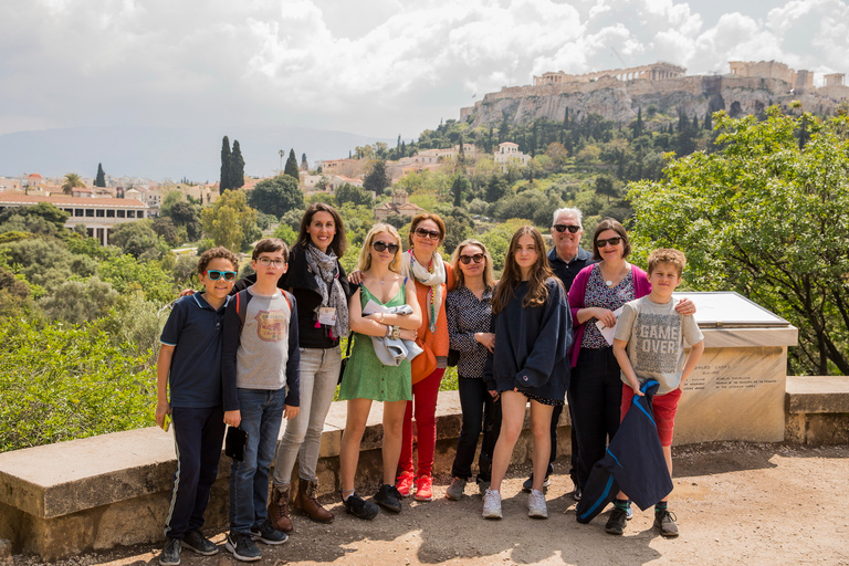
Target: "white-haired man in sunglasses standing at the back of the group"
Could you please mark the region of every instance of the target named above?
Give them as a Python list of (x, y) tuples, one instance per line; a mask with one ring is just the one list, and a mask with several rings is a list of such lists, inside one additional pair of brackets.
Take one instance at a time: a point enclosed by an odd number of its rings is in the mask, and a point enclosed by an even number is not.
[[(580, 238), (584, 235), (584, 226), (580, 223), (581, 213), (577, 208), (560, 208), (554, 211), (552, 219), (552, 239), (554, 248), (548, 252), (548, 264), (552, 271), (563, 281), (566, 291), (572, 286), (572, 282), (580, 270), (596, 263), (593, 259), (593, 252), (580, 247)], [(548, 486), (548, 475), (554, 471), (554, 461), (557, 458), (557, 423), (560, 420), (563, 406), (556, 406), (552, 415), (552, 454), (548, 460), (548, 470), (545, 474), (544, 486)], [(578, 458), (578, 446), (575, 438), (575, 427), (572, 427), (572, 467), (569, 476), (575, 483), (575, 499), (580, 499), (580, 490), (575, 481), (575, 465)], [(534, 483), (534, 474), (525, 480), (522, 488), (530, 492)]]

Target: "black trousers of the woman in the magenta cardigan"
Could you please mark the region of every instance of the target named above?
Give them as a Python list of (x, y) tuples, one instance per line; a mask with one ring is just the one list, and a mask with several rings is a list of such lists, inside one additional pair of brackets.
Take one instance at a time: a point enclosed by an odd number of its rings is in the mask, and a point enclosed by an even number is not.
[(605, 457), (619, 430), (622, 380), (611, 347), (580, 348), (572, 370), (569, 410), (578, 440), (578, 486), (583, 490), (593, 465)]

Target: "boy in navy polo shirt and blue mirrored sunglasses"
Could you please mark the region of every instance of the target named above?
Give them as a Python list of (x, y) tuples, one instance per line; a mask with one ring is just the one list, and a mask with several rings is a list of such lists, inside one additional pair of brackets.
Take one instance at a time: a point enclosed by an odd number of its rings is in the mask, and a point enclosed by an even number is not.
[[(229, 293), (239, 260), (226, 248), (207, 250), (198, 262), (206, 292), (178, 298), (160, 338), (156, 365), (156, 423), (174, 421), (177, 471), (159, 556), (163, 566), (180, 564), (181, 547), (210, 556), (218, 547), (200, 532), (209, 492), (218, 475), (224, 438), (221, 399), (221, 337)], [(170, 386), (170, 402), (166, 394)]]

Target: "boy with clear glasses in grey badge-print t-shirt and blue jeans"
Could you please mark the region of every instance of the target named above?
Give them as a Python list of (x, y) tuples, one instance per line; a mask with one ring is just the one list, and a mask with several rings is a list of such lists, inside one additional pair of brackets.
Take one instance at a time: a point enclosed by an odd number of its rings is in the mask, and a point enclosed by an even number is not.
[(282, 420), (296, 417), (301, 405), (297, 306), (294, 295), (277, 289), (289, 268), (289, 248), (266, 238), (256, 242), (252, 258), (256, 282), (231, 300), (221, 359), (224, 422), (248, 433), (244, 459), (230, 467), (224, 547), (244, 562), (262, 557), (254, 539), (286, 542), (269, 520), (269, 476)]

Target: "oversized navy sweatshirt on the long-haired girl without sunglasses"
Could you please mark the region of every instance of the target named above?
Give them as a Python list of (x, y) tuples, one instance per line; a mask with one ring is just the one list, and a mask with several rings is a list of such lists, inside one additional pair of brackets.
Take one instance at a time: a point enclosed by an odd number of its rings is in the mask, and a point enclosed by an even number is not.
[(572, 314), (566, 293), (555, 277), (545, 282), (548, 302), (523, 307), (527, 283), (492, 316), (495, 353), (486, 357), (483, 378), (491, 391), (517, 388), (544, 399), (563, 401), (569, 387)]

